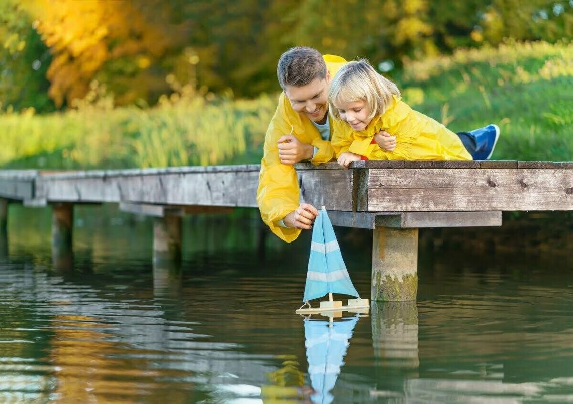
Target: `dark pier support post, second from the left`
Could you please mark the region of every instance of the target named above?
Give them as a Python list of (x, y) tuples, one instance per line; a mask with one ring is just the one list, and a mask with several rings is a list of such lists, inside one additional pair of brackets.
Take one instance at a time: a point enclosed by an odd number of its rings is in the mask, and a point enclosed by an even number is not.
[(57, 269), (73, 267), (73, 203), (52, 205), (52, 263)]

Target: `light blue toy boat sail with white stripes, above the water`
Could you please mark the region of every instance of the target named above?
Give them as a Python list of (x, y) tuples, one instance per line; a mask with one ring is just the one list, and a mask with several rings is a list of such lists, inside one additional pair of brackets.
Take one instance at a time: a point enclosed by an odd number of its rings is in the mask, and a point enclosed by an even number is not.
[(311, 255), (308, 259), (303, 302), (323, 297), (327, 293), (359, 297), (344, 265), (328, 213), (323, 208), (312, 228)]

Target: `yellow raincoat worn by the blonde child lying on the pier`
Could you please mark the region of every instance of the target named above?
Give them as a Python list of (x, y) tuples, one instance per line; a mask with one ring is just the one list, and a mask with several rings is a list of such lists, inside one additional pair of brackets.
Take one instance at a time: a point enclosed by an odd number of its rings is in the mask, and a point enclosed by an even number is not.
[[(371, 144), (374, 135), (385, 130), (396, 137), (392, 152)], [(414, 111), (399, 96), (393, 95), (382, 115), (374, 116), (368, 127), (356, 132), (344, 123), (332, 132), (336, 157), (351, 152), (368, 160), (472, 160), (458, 135), (429, 116)]]

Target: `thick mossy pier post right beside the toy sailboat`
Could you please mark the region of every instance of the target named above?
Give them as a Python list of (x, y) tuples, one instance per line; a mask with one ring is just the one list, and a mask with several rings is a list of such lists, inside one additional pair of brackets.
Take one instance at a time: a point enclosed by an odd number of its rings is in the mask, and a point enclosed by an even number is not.
[(416, 300), (418, 229), (376, 227), (372, 242), (373, 301)]

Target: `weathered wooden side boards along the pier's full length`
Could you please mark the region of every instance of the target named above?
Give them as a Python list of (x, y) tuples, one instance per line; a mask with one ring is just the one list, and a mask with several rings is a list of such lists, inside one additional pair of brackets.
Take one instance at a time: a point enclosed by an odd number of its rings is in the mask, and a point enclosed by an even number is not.
[[(573, 163), (360, 161), (295, 166), (301, 199), (332, 211), (572, 210)], [(260, 165), (42, 172), (0, 170), (0, 197), (52, 202), (257, 207)]]

